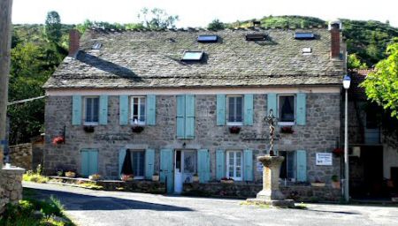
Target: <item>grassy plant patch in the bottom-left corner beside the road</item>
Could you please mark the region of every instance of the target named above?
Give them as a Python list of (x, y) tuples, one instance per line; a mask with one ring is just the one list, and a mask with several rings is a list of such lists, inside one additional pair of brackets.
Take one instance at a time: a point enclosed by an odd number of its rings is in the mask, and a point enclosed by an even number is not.
[(34, 200), (33, 190), (24, 190), (28, 198), (16, 205), (8, 204), (0, 219), (2, 226), (74, 226), (64, 214), (61, 202), (50, 196), (49, 200)]

